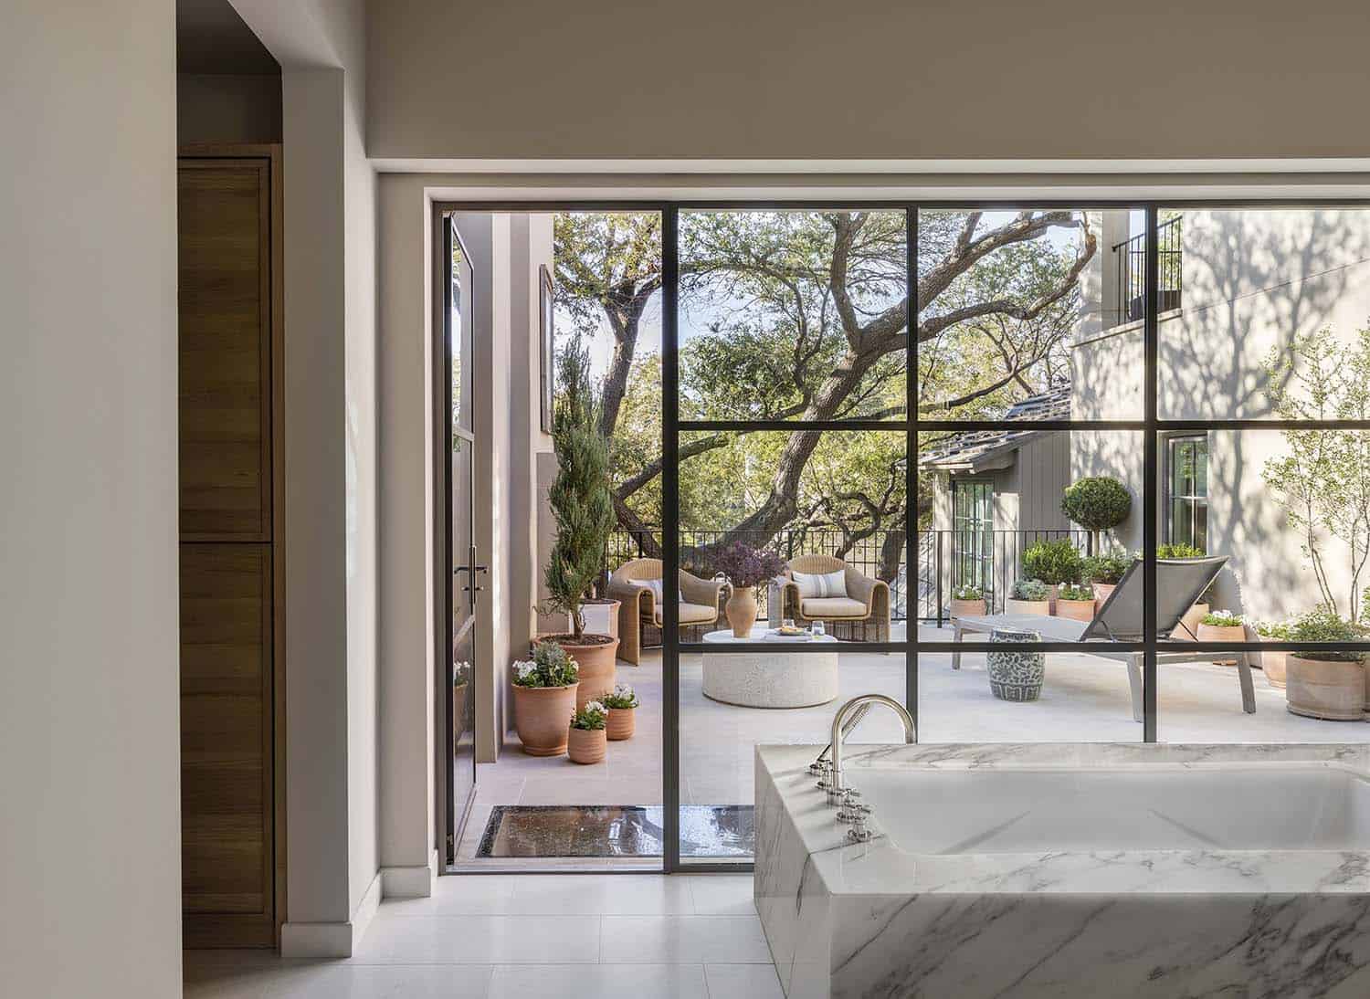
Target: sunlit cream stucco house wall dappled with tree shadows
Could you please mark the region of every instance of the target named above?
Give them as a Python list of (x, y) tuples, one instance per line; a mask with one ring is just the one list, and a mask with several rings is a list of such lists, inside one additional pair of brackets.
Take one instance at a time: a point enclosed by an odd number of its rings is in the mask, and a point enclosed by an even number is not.
[[(1159, 323), (1162, 418), (1273, 417), (1265, 369), (1271, 351), (1319, 329), (1349, 338), (1370, 323), (1370, 211), (1186, 211), (1182, 226), (1182, 308)], [(1077, 345), (1071, 371), (1077, 418), (1140, 418), (1141, 323)], [(1262, 478), (1266, 462), (1285, 452), (1284, 434), (1207, 436), (1208, 551), (1230, 559), (1215, 602), (1255, 617), (1307, 610), (1318, 600), (1317, 582), (1282, 504)], [(1140, 548), (1141, 463), (1132, 440), (1075, 434), (1071, 474), (1114, 476), (1128, 484), (1136, 503), (1115, 536), (1121, 545)], [(1162, 539), (1166, 473), (1162, 465)], [(1348, 593), (1344, 547), (1329, 541), (1325, 551), (1333, 591)]]

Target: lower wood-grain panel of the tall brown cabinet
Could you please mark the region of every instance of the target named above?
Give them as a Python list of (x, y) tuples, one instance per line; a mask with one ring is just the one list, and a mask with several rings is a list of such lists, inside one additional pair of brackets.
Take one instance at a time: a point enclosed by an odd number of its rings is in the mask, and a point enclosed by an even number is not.
[(274, 939), (271, 547), (181, 545), (181, 872), (186, 913)]

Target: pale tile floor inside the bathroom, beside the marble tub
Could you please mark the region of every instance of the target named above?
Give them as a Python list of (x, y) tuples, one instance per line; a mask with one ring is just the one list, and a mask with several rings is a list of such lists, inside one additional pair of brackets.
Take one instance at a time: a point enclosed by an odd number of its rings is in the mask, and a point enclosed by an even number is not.
[(780, 999), (751, 874), (458, 874), (345, 961), (188, 951), (188, 999)]

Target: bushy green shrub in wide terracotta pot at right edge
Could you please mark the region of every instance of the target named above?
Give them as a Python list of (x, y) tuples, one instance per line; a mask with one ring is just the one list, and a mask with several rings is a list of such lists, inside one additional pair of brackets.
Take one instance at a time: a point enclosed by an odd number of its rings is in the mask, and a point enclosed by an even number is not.
[[(1289, 629), (1292, 641), (1363, 641), (1365, 629), (1326, 607), (1308, 611)], [(1330, 721), (1362, 721), (1366, 708), (1365, 654), (1289, 652), (1285, 700), (1293, 714)]]

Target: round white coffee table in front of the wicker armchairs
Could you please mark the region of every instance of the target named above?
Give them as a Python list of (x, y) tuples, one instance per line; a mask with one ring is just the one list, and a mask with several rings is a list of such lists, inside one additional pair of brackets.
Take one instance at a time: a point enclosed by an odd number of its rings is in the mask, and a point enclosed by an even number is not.
[[(710, 632), (708, 644), (745, 644), (747, 652), (704, 652), (704, 696), (741, 707), (812, 707), (837, 696), (837, 639), (822, 634), (808, 641), (766, 637), (766, 625), (751, 637), (732, 630)], [(823, 644), (823, 651), (796, 645)]]

